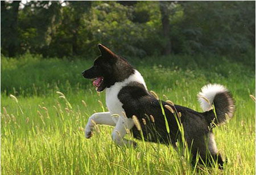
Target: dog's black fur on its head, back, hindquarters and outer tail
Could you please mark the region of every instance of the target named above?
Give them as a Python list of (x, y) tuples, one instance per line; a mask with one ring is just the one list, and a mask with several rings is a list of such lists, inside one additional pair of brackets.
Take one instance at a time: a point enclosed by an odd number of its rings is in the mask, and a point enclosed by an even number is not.
[[(103, 77), (103, 82), (97, 88), (97, 91), (103, 91), (105, 88), (113, 86), (116, 82), (122, 82), (134, 74), (135, 69), (125, 59), (118, 57), (103, 45), (98, 45), (98, 47), (101, 51), (101, 56), (94, 61), (92, 68), (82, 72), (84, 78)], [(200, 113), (183, 106), (172, 106), (170, 103), (157, 100), (140, 82), (130, 82), (123, 86), (118, 93), (118, 99), (123, 104), (122, 108), (125, 110), (127, 118), (137, 116), (145, 140), (172, 144), (176, 147), (175, 143), (181, 139), (177, 122), (182, 123), (184, 138), (189, 148), (191, 148), (192, 155), (199, 153), (203, 161), (209, 161), (212, 159), (210, 156), (212, 156), (213, 159), (218, 160), (218, 164), (222, 167), (224, 161), (221, 155), (214, 151), (217, 148), (212, 129), (214, 126), (225, 122), (225, 113), (230, 114), (230, 118), (233, 116), (234, 101), (229, 91), (217, 93), (214, 97), (213, 103), (218, 118), (215, 117), (213, 110)], [(174, 113), (172, 113), (163, 107), (170, 128), (170, 134), (167, 132), (166, 121), (160, 103), (163, 106), (168, 105), (174, 110)], [(174, 114), (179, 116), (178, 113), (181, 113), (181, 117), (175, 118)], [(139, 133), (135, 126), (131, 131), (135, 138), (141, 139), (141, 133)], [(210, 148), (212, 150), (208, 147), (212, 147)], [(195, 160), (195, 156), (193, 158)]]

